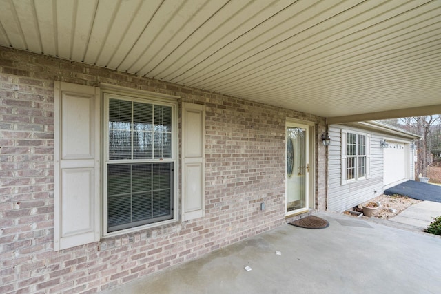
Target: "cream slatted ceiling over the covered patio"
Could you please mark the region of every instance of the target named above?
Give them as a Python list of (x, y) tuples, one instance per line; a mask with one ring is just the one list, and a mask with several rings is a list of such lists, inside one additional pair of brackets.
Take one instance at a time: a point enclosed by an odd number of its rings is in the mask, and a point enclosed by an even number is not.
[(0, 0), (0, 45), (328, 118), (441, 114), (441, 1)]

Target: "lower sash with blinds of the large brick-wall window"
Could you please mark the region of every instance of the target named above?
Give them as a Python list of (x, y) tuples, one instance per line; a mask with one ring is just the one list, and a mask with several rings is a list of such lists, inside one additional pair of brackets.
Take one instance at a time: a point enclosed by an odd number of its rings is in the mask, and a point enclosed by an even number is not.
[(107, 231), (173, 218), (173, 163), (107, 167)]

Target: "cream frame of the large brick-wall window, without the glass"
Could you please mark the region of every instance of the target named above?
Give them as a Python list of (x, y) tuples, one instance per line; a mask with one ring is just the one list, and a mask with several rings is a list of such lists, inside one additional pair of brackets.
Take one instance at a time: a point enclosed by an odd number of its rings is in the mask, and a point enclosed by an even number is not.
[[(110, 98), (116, 98), (119, 100), (125, 101), (134, 101), (141, 103), (152, 103), (155, 105), (165, 105), (172, 107), (172, 158), (152, 158), (149, 160), (144, 159), (136, 159), (136, 160), (110, 160), (109, 159), (109, 140), (108, 140), (108, 120), (109, 120), (109, 100)], [(103, 196), (101, 198), (101, 207), (103, 207), (101, 213), (101, 221), (102, 221), (102, 236), (112, 236), (112, 235), (121, 235), (123, 233), (130, 233), (133, 231), (139, 231), (141, 229), (147, 229), (151, 227), (158, 227), (163, 224), (170, 224), (172, 222), (176, 222), (178, 220), (178, 102), (172, 98), (155, 98), (153, 96), (141, 95), (141, 94), (132, 94), (132, 93), (123, 93), (121, 92), (115, 93), (112, 91), (103, 91), (103, 166), (101, 167), (103, 171)], [(172, 219), (164, 220), (159, 222), (153, 222), (151, 224), (144, 224), (138, 227), (132, 227), (128, 229), (121, 229), (119, 231), (113, 231), (107, 233), (107, 165), (109, 163), (154, 163), (154, 162), (173, 162), (174, 171), (173, 171), (173, 213)]]

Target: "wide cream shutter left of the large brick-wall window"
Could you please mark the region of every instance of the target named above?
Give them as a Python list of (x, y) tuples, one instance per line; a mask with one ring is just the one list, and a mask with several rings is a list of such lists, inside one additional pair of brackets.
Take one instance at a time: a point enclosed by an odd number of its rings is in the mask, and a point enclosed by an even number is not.
[(55, 82), (54, 251), (99, 241), (99, 88)]

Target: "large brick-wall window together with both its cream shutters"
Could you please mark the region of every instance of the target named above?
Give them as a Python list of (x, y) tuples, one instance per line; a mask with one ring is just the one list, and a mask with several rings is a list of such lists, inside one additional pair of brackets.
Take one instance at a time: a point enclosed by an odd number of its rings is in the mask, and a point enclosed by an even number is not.
[(204, 105), (181, 104), (178, 193), (178, 97), (54, 85), (54, 251), (205, 216)]

